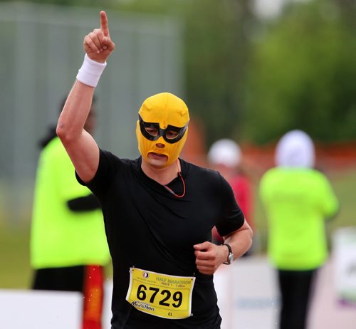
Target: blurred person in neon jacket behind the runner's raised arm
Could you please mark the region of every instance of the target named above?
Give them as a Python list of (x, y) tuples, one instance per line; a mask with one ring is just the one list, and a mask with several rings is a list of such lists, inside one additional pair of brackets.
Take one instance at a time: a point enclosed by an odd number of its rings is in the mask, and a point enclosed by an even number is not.
[[(95, 102), (85, 129), (93, 132), (94, 127)], [(100, 204), (75, 179), (56, 127), (49, 128), (40, 146), (30, 241), (32, 288), (83, 293), (83, 329), (101, 329), (110, 254)]]

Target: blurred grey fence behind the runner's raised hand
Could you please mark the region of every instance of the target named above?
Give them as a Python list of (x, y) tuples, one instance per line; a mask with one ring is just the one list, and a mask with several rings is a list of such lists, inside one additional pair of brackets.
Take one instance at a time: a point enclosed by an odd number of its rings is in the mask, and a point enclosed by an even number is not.
[[(177, 19), (107, 11), (116, 43), (95, 93), (100, 147), (138, 155), (137, 110), (148, 96), (184, 97), (182, 31)], [(0, 223), (29, 219), (38, 140), (55, 125), (60, 103), (83, 62), (83, 37), (99, 10), (0, 4)]]

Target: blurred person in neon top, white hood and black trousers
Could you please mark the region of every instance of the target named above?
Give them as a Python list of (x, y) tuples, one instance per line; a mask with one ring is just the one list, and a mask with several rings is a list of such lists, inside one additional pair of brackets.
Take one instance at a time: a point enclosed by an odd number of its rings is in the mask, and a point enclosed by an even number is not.
[(268, 258), (278, 271), (280, 329), (304, 329), (315, 273), (328, 258), (325, 219), (339, 207), (328, 178), (314, 169), (313, 140), (301, 130), (281, 137), (276, 167), (260, 182), (268, 219)]

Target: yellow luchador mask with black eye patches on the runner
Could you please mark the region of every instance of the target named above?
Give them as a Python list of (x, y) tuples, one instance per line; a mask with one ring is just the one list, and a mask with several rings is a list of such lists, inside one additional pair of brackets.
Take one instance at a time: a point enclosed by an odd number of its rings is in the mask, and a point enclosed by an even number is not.
[[(166, 155), (164, 167), (178, 159), (187, 140), (189, 111), (184, 101), (171, 93), (147, 98), (138, 112), (138, 150), (147, 161), (150, 152)], [(157, 147), (157, 144), (164, 147)]]

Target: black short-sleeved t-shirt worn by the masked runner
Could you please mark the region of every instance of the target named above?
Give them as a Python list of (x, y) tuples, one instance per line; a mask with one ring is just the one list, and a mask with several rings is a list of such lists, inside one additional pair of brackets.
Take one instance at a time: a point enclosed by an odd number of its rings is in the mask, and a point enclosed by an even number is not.
[[(239, 229), (244, 214), (219, 172), (180, 160), (186, 192), (178, 198), (147, 177), (141, 158), (122, 160), (100, 150), (98, 172), (88, 183), (103, 209), (113, 266), (112, 329), (220, 328), (213, 276), (199, 273), (194, 244)], [(78, 179), (80, 181), (80, 179)], [(82, 182), (83, 184), (83, 182)], [(183, 193), (178, 176), (167, 185)], [(143, 313), (125, 300), (130, 267), (172, 276), (195, 276), (192, 316), (182, 320)]]

